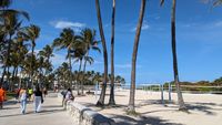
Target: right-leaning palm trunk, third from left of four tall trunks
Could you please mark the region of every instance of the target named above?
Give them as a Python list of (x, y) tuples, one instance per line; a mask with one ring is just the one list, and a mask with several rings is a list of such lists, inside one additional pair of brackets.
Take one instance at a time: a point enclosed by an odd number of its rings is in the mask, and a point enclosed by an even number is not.
[(133, 45), (133, 53), (132, 53), (132, 71), (131, 71), (131, 86), (130, 86), (130, 101), (128, 106), (129, 113), (134, 113), (134, 96), (135, 96), (135, 66), (137, 66), (137, 55), (138, 55), (138, 46), (140, 41), (140, 33), (143, 22), (143, 17), (145, 12), (145, 1), (141, 0), (141, 8), (140, 8), (140, 17), (138, 22), (138, 28), (135, 32), (134, 45)]

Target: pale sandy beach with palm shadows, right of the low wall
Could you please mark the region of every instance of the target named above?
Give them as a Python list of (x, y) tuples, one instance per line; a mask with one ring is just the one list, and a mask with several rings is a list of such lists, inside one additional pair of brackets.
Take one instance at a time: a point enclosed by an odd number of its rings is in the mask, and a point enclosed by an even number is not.
[[(129, 102), (129, 90), (115, 91), (117, 107), (95, 107), (99, 95), (75, 97), (75, 102), (114, 119), (118, 125), (222, 125), (222, 95), (183, 93), (189, 113), (179, 112), (175, 104), (176, 94), (172, 93), (172, 102), (168, 103), (168, 93), (164, 93), (165, 104), (161, 103), (160, 92), (135, 92), (135, 110), (140, 116), (129, 116), (124, 110)], [(105, 104), (109, 101), (109, 91)]]

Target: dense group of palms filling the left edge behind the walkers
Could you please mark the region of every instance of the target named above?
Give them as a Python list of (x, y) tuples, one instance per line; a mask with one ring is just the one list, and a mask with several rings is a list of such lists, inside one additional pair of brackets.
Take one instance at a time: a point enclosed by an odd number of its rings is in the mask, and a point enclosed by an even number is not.
[(34, 52), (40, 28), (34, 24), (22, 25), (23, 20), (29, 21), (29, 14), (10, 9), (10, 4), (11, 0), (0, 1), (0, 63), (2, 67), (0, 85), (6, 83), (3, 85), (13, 90), (16, 84), (21, 86), (21, 75), (28, 79), (26, 84), (30, 86), (33, 86), (33, 82), (37, 83), (38, 77), (41, 77), (43, 82), (42, 74), (47, 75), (52, 71), (52, 64), (49, 61), (52, 49), (47, 45), (38, 54)]

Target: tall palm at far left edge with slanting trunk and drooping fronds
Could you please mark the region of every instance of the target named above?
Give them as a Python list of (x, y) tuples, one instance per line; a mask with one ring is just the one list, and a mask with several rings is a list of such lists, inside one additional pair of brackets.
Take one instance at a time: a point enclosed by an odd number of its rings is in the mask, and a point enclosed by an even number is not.
[(3, 82), (3, 77), (6, 74), (7, 63), (9, 63), (9, 54), (11, 49), (11, 42), (13, 34), (19, 30), (21, 25), (21, 21), (19, 21), (19, 17), (23, 15), (27, 20), (29, 20), (29, 14), (24, 11), (18, 11), (13, 9), (8, 9), (11, 4), (11, 0), (2, 0), (0, 2), (0, 35), (1, 35), (1, 45), (7, 44), (7, 55), (3, 65), (3, 73), (1, 76), (1, 83)]

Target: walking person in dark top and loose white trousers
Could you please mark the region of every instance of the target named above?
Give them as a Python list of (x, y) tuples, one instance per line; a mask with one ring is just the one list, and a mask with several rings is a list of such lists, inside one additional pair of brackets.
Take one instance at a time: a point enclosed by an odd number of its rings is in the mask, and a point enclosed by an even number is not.
[(41, 104), (43, 103), (42, 92), (40, 91), (39, 86), (37, 86), (37, 90), (34, 91), (33, 102), (34, 113), (39, 113), (41, 110)]

